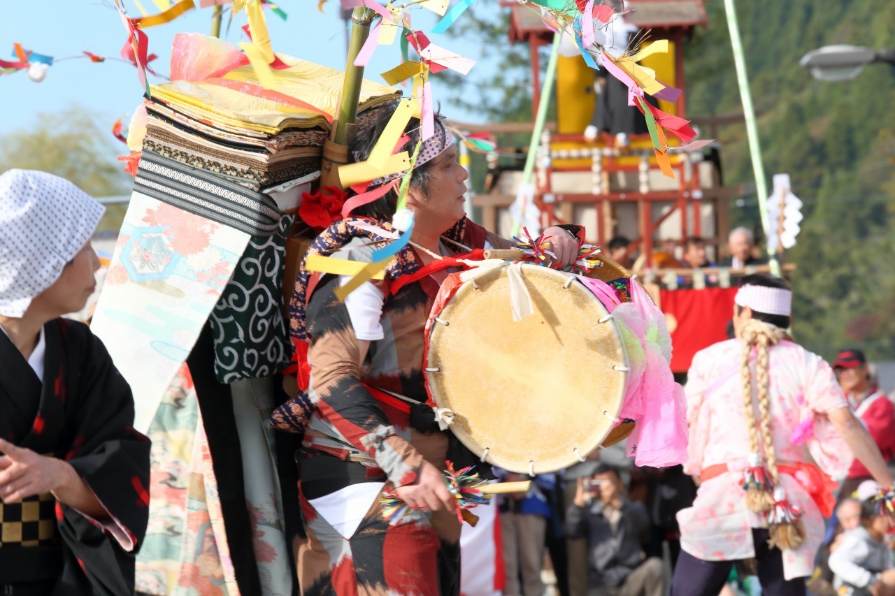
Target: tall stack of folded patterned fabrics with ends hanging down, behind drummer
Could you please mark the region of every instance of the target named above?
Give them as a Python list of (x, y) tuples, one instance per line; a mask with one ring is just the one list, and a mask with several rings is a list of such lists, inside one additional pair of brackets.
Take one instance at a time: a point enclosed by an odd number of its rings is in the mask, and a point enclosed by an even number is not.
[[(187, 42), (217, 42), (202, 38)], [(286, 238), (319, 176), (344, 73), (278, 57), (289, 67), (272, 72), (276, 90), (244, 64), (154, 85), (144, 101), (140, 166), (95, 323), (142, 389), (141, 430), (209, 319), (218, 382), (268, 377), (290, 360)], [(364, 81), (359, 111), (399, 96)]]

